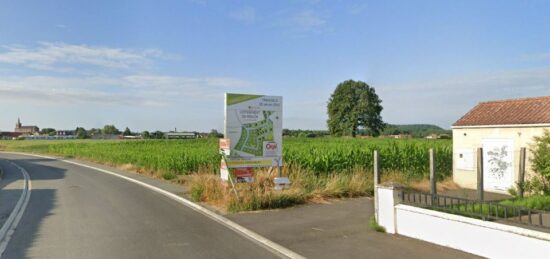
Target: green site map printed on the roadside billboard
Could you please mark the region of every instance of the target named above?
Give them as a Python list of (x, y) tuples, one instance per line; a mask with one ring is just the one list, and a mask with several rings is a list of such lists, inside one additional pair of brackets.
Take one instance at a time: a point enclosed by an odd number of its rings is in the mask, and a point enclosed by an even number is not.
[(241, 137), (235, 145), (235, 150), (263, 156), (264, 141), (273, 141), (272, 111), (263, 111), (263, 119), (254, 123), (242, 124)]

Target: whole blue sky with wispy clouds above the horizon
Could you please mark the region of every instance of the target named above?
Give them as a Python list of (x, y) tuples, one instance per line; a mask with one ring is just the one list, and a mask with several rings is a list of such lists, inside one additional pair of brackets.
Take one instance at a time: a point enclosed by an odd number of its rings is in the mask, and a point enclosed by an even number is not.
[(481, 101), (550, 95), (549, 1), (0, 0), (0, 130), (223, 129), (225, 92), (280, 95), (326, 129), (338, 83), (387, 123), (449, 128)]

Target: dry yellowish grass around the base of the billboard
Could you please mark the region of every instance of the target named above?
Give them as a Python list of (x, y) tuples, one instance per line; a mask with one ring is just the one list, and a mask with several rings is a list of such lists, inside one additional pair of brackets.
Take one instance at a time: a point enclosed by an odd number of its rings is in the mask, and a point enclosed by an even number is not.
[(290, 188), (273, 190), (275, 173), (256, 172), (253, 183), (238, 184), (234, 193), (229, 183), (218, 175), (198, 173), (188, 176), (188, 189), (193, 200), (219, 209), (238, 212), (284, 208), (306, 202), (325, 203), (330, 198), (368, 196), (373, 193), (370, 173), (361, 168), (350, 172), (316, 175), (300, 167), (285, 166), (283, 175), (291, 180)]

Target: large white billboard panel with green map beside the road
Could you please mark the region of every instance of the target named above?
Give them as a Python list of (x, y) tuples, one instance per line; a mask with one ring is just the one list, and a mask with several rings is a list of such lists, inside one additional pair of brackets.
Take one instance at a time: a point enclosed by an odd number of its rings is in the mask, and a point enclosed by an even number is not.
[[(283, 98), (225, 94), (225, 138), (228, 168), (282, 166)], [(250, 175), (253, 170), (239, 170)], [(247, 172), (247, 173), (245, 173)]]

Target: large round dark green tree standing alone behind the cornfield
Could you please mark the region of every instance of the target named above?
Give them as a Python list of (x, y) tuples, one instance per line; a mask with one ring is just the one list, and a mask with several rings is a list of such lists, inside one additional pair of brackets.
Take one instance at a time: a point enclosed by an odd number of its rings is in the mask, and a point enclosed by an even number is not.
[(347, 80), (338, 84), (327, 105), (330, 134), (355, 137), (362, 127), (373, 136), (380, 135), (385, 126), (381, 103), (374, 88), (364, 82)]

